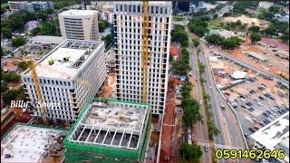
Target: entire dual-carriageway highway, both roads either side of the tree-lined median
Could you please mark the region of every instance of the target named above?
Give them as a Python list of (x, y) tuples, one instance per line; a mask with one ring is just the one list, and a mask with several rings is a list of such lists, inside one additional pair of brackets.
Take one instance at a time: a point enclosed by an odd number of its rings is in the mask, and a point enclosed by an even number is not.
[[(189, 30), (186, 28), (186, 31), (189, 34), (189, 38), (193, 38), (194, 34), (189, 33)], [(243, 135), (240, 131), (237, 118), (235, 114), (232, 112), (232, 110), (227, 106), (227, 101), (225, 101), (221, 95), (219, 94), (215, 81), (213, 79), (210, 66), (208, 64), (208, 60), (206, 59), (209, 54), (209, 50), (207, 46), (203, 43), (201, 43), (201, 53), (199, 53), (199, 60), (205, 65), (205, 72), (203, 73), (203, 77), (206, 81), (205, 88), (207, 93), (210, 95), (210, 102), (212, 106), (212, 114), (214, 122), (217, 126), (217, 128), (220, 130), (220, 134), (214, 138), (215, 148), (223, 148), (223, 149), (246, 149), (246, 145), (244, 143)], [(198, 62), (197, 62), (197, 55), (196, 55), (196, 49), (192, 44), (191, 39), (189, 39), (189, 53), (190, 53), (190, 66), (192, 68), (191, 74), (195, 79), (197, 79), (197, 82), (195, 81), (195, 87), (194, 91), (197, 91), (198, 95), (198, 101), (202, 101), (202, 91), (199, 83), (199, 76), (198, 76)], [(225, 110), (220, 109), (220, 105), (225, 106)], [(205, 109), (202, 107), (201, 115), (206, 118), (205, 115)], [(206, 121), (206, 119), (205, 119)], [(208, 128), (206, 125), (201, 124), (198, 122), (196, 125), (197, 132), (200, 132), (200, 134), (197, 134), (198, 140), (200, 141), (199, 144), (206, 144), (207, 139), (204, 135), (208, 133)], [(201, 137), (201, 139), (200, 139)], [(202, 143), (201, 143), (202, 142)], [(209, 155), (209, 153), (208, 153)], [(203, 159), (206, 159), (210, 156), (204, 156)], [(218, 162), (227, 162), (226, 160), (222, 159)], [(231, 162), (244, 162), (244, 160), (231, 160)]]

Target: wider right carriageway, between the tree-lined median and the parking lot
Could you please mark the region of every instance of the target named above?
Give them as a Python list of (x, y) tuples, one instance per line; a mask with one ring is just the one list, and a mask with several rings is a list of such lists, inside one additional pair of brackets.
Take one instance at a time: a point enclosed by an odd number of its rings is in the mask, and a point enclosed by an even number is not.
[[(243, 140), (243, 135), (239, 128), (237, 119), (233, 111), (227, 106), (227, 101), (225, 101), (219, 94), (215, 81), (210, 70), (208, 63), (208, 58), (210, 50), (208, 47), (201, 43), (203, 49), (200, 53), (200, 61), (205, 65), (205, 79), (206, 79), (206, 91), (211, 97), (213, 118), (218, 129), (221, 131), (218, 137), (215, 138), (215, 144), (220, 147), (224, 145), (227, 149), (246, 149), (246, 145)], [(211, 88), (211, 89), (210, 89)], [(225, 110), (221, 110), (220, 105), (225, 106)], [(219, 148), (217, 147), (217, 148)], [(221, 160), (224, 162), (225, 160)], [(231, 162), (244, 162), (244, 160), (231, 160)]]

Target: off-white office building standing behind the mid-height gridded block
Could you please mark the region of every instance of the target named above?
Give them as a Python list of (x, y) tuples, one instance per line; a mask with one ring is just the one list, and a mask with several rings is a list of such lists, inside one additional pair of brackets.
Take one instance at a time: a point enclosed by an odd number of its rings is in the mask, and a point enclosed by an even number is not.
[(97, 41), (100, 39), (98, 12), (67, 10), (58, 14), (63, 39)]

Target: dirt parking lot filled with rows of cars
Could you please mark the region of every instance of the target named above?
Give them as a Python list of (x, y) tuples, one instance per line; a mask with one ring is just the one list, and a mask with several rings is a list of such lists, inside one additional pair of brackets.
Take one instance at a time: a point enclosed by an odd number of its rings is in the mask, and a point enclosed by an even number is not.
[(249, 147), (251, 134), (289, 111), (289, 91), (261, 76), (222, 92), (237, 111)]

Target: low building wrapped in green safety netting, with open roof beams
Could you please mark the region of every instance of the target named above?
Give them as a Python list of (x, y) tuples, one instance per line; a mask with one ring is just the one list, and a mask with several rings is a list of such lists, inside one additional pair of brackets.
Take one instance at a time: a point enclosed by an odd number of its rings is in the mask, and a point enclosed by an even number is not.
[(144, 103), (93, 98), (64, 139), (65, 162), (143, 162), (150, 116)]

